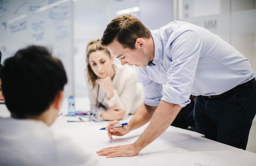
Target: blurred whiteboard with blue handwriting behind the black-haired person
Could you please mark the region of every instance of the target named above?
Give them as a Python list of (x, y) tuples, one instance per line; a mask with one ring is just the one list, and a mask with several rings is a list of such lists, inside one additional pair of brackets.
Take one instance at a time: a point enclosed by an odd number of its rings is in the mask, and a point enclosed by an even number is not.
[(47, 47), (65, 67), (65, 96), (73, 93), (72, 40), (72, 0), (0, 0), (1, 63), (20, 48)]

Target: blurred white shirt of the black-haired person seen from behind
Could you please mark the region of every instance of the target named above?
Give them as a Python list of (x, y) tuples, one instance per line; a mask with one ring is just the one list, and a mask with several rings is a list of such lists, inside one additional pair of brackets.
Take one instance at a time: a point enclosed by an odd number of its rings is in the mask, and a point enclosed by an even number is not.
[(42, 121), (0, 118), (1, 166), (95, 165), (89, 155)]

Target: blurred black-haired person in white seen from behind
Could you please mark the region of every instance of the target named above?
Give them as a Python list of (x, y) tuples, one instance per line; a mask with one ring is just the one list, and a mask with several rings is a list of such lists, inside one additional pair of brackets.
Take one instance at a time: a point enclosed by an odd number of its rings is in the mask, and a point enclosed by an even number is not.
[(49, 127), (58, 116), (67, 76), (41, 46), (6, 59), (2, 89), (10, 118), (0, 118), (0, 165), (87, 165), (88, 154)]

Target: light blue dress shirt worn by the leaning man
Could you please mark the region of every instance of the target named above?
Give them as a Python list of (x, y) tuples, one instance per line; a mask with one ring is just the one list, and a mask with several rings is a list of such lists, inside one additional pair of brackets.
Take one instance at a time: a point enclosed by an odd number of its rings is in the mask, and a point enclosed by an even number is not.
[(192, 95), (219, 95), (255, 77), (243, 54), (207, 29), (174, 21), (150, 30), (153, 64), (139, 67), (144, 103), (185, 107)]

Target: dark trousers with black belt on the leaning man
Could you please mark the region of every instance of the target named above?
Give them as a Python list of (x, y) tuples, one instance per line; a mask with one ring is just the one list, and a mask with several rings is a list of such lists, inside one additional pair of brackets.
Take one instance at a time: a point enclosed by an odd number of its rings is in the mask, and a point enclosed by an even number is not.
[(256, 113), (256, 81), (221, 98), (197, 96), (194, 119), (206, 138), (246, 149)]

